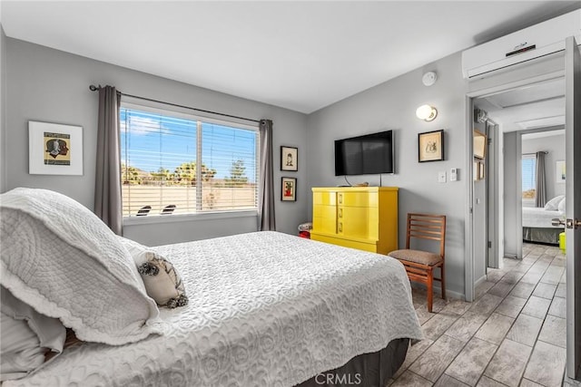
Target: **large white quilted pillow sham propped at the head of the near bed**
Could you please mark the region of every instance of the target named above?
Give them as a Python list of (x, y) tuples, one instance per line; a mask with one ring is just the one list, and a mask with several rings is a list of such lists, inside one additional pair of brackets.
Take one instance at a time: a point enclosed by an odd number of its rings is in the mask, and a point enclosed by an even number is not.
[(159, 309), (101, 219), (46, 189), (0, 195), (1, 285), (83, 341), (121, 345), (159, 332)]

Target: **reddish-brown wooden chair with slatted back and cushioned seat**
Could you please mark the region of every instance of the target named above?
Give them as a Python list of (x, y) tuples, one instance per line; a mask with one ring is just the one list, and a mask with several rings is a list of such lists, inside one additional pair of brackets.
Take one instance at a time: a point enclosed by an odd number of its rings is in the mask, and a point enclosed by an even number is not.
[[(410, 239), (428, 239), (439, 242), (439, 252), (433, 253), (410, 248)], [(414, 242), (415, 244), (418, 241)], [(406, 248), (392, 251), (388, 256), (399, 259), (406, 267), (410, 281), (420, 282), (428, 287), (428, 312), (432, 311), (433, 282), (439, 281), (442, 287), (442, 298), (446, 299), (446, 282), (444, 275), (444, 255), (446, 243), (446, 216), (432, 214), (408, 214), (408, 232)], [(429, 243), (423, 242), (422, 247)], [(434, 277), (434, 269), (440, 268), (440, 277)]]

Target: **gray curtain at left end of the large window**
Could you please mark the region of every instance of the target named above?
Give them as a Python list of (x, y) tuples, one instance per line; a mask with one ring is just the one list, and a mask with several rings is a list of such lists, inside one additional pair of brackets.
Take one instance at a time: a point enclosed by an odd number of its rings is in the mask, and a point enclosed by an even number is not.
[(99, 89), (94, 213), (118, 235), (122, 235), (123, 232), (119, 144), (120, 104), (121, 93), (117, 92), (113, 86)]

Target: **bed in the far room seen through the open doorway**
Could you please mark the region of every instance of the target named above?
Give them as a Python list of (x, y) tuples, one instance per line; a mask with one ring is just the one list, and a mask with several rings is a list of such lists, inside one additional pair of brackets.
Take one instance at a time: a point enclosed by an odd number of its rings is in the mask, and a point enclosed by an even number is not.
[[(559, 201), (560, 202), (560, 201)], [(551, 221), (554, 218), (563, 218), (563, 210), (523, 207), (523, 240), (533, 243), (558, 245), (559, 234), (564, 227), (554, 227)]]

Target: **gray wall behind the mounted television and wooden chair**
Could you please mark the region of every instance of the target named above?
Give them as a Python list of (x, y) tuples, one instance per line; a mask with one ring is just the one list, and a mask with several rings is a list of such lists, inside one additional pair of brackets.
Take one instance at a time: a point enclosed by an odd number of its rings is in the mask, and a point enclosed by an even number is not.
[[(427, 71), (438, 73), (438, 82), (421, 82)], [(460, 53), (403, 74), (365, 92), (334, 103), (308, 118), (308, 186), (345, 184), (334, 173), (334, 140), (384, 130), (396, 135), (395, 175), (382, 175), (383, 186), (399, 187), (399, 246), (405, 246), (408, 212), (443, 213), (448, 216), (446, 243), (447, 289), (464, 295), (464, 215), (466, 206), (466, 84)], [(438, 109), (435, 121), (416, 118), (419, 105)], [(418, 162), (418, 133), (445, 130), (445, 160)], [(459, 180), (449, 181), (449, 170), (459, 169)], [(438, 183), (438, 171), (447, 172), (447, 182)], [(379, 175), (351, 177), (351, 183), (368, 181), (379, 185)], [(310, 212), (312, 203), (310, 200)]]

